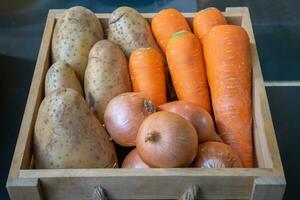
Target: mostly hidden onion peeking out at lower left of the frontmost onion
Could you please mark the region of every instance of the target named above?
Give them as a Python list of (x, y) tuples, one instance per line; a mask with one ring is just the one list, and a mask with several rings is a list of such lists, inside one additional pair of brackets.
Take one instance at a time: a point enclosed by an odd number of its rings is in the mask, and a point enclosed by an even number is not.
[(149, 168), (139, 156), (136, 149), (133, 149), (124, 159), (122, 168)]

